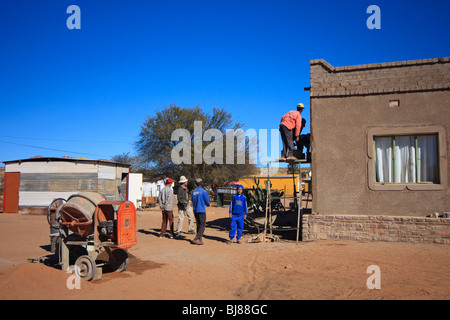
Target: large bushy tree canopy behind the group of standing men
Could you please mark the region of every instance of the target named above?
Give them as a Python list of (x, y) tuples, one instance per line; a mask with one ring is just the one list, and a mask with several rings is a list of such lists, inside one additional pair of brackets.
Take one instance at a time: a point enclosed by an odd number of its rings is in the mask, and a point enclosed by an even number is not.
[[(208, 129), (217, 129), (223, 138), (223, 164), (210, 164), (204, 162), (194, 164), (194, 122), (202, 122), (202, 136)], [(155, 116), (148, 117), (141, 125), (139, 139), (136, 142), (136, 150), (140, 166), (148, 179), (155, 180), (164, 177), (178, 179), (186, 176), (190, 184), (195, 178), (201, 177), (207, 184), (222, 185), (237, 180), (243, 175), (254, 173), (255, 166), (249, 164), (248, 148), (246, 148), (245, 164), (226, 164), (225, 162), (225, 133), (226, 129), (239, 129), (243, 124), (234, 122), (232, 115), (224, 109), (214, 108), (212, 113), (204, 112), (199, 106), (180, 108), (176, 105), (157, 111)], [(178, 141), (172, 141), (172, 132), (176, 129), (187, 129), (191, 133), (191, 164), (182, 163), (176, 165), (172, 162), (171, 152)], [(203, 149), (211, 142), (203, 142)], [(236, 149), (236, 145), (235, 145)], [(234, 150), (236, 152), (236, 150)], [(192, 186), (192, 185), (190, 185)]]

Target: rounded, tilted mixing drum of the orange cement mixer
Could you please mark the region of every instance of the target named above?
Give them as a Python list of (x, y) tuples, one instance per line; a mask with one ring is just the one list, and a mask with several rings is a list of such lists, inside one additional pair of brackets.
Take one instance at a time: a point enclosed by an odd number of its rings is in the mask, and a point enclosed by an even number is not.
[(98, 203), (105, 201), (105, 197), (97, 192), (80, 192), (67, 199), (58, 208), (57, 214), (70, 231), (87, 237), (94, 233), (93, 216)]

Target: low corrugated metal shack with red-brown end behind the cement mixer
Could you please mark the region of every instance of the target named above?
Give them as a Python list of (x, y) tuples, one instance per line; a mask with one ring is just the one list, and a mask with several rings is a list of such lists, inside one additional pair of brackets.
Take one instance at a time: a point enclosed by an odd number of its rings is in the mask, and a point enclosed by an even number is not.
[(96, 191), (107, 200), (127, 199), (128, 164), (69, 157), (3, 163), (4, 213), (44, 214), (53, 199), (67, 199), (80, 191)]

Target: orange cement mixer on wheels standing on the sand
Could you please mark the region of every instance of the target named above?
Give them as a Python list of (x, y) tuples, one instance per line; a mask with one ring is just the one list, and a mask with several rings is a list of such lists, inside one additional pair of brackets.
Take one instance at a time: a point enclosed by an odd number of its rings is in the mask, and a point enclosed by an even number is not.
[[(47, 210), (52, 248), (62, 270), (75, 266), (85, 280), (104, 270), (124, 271), (127, 249), (136, 244), (136, 208), (130, 201), (107, 201), (96, 192), (55, 199)], [(55, 245), (53, 245), (55, 243)]]

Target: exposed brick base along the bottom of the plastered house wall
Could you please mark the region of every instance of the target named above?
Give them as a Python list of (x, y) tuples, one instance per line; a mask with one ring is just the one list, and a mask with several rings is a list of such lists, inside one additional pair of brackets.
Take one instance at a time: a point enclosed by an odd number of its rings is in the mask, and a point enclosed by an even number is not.
[(303, 240), (399, 241), (450, 244), (450, 219), (306, 214)]

